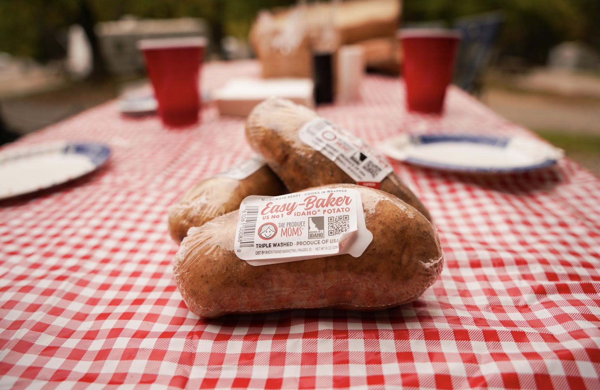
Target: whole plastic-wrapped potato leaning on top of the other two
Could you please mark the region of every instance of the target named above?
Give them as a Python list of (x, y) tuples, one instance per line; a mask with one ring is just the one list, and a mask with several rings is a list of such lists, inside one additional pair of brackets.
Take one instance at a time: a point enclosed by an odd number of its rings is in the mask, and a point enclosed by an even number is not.
[[(310, 133), (305, 134), (309, 138), (308, 142), (316, 142), (316, 145), (311, 146), (304, 142), (304, 139), (301, 139), (301, 130), (314, 131), (315, 129), (305, 127), (311, 121), (316, 121), (315, 126), (322, 126), (317, 118), (319, 118), (317, 113), (305, 106), (296, 105), (287, 99), (271, 98), (257, 105), (248, 115), (246, 136), (254, 151), (263, 156), (275, 174), (292, 192), (334, 183), (362, 184), (361, 179), (356, 176), (351, 177), (347, 171), (353, 170), (361, 174), (358, 171), (364, 168), (362, 174), (367, 175), (365, 181), (376, 177), (379, 172), (381, 180), (376, 184), (380, 190), (397, 196), (431, 221), (428, 210), (391, 167), (388, 165), (388, 171), (382, 171), (382, 165), (387, 164), (385, 159), (380, 161), (379, 166), (377, 161), (371, 161), (376, 160), (379, 154), (368, 145), (364, 143), (361, 145), (367, 150), (364, 154), (360, 154), (361, 150), (356, 148), (357, 145), (350, 145), (347, 150), (352, 150), (350, 153), (356, 151), (356, 158), (350, 154), (348, 154), (350, 158), (346, 158), (343, 151), (332, 151), (328, 145), (321, 151), (317, 150), (315, 147), (319, 147), (319, 142), (323, 145), (323, 139), (316, 139), (314, 136), (310, 139)], [(322, 122), (328, 123), (326, 120)], [(330, 135), (332, 138), (335, 137), (334, 133)], [(353, 138), (351, 141), (362, 142), (355, 136), (351, 136)], [(347, 146), (351, 142), (345, 143)], [(343, 148), (344, 145), (341, 147)], [(367, 157), (365, 154), (368, 153), (371, 153), (373, 158), (365, 160), (364, 157)], [(340, 168), (340, 163), (346, 163), (346, 167), (350, 170), (345, 171)], [(371, 174), (373, 177), (369, 177)], [(368, 184), (363, 185), (368, 186)]]

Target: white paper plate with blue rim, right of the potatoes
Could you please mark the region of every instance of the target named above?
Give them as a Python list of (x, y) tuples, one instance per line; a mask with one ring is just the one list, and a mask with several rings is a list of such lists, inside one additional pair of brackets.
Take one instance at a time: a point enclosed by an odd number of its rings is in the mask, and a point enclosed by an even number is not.
[(401, 134), (377, 145), (392, 159), (454, 172), (515, 173), (548, 168), (561, 149), (525, 136)]

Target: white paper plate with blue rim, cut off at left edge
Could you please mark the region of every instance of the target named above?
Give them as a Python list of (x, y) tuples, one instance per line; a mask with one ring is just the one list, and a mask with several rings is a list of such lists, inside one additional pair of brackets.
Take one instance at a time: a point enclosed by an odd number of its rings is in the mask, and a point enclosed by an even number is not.
[(0, 153), (0, 200), (57, 186), (100, 168), (110, 149), (94, 142), (57, 142)]

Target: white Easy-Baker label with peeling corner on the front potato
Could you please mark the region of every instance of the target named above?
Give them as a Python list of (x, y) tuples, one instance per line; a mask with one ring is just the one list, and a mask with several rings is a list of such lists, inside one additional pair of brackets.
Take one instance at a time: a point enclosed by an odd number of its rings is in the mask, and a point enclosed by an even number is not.
[(340, 254), (359, 257), (373, 240), (361, 195), (352, 188), (247, 197), (236, 232), (235, 254), (253, 266)]

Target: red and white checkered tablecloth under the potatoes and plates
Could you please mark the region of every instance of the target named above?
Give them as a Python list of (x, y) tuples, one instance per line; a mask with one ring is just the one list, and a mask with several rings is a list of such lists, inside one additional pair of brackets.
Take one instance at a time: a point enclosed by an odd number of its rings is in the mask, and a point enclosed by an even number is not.
[[(203, 86), (257, 73), (209, 65)], [(442, 117), (404, 110), (397, 79), (320, 114), (370, 142), (401, 132), (530, 135), (453, 88)], [(431, 211), (446, 263), (420, 299), (202, 320), (176, 288), (167, 207), (250, 156), (244, 120), (127, 119), (116, 102), (6, 148), (110, 145), (108, 165), (0, 203), (0, 389), (600, 389), (600, 180), (555, 171), (470, 177), (394, 162)]]

